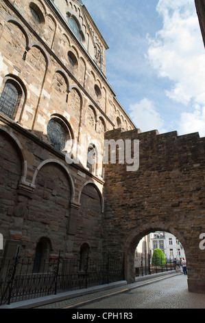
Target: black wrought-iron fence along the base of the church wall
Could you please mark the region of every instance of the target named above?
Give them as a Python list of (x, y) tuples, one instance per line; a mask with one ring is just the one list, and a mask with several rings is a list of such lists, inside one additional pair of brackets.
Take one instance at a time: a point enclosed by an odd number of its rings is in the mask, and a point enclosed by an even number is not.
[(62, 259), (59, 254), (58, 259), (45, 261), (36, 273), (34, 262), (21, 259), (17, 252), (8, 263), (2, 260), (0, 266), (0, 305), (124, 279), (123, 261), (110, 256), (106, 260), (86, 258), (82, 266), (80, 260)]

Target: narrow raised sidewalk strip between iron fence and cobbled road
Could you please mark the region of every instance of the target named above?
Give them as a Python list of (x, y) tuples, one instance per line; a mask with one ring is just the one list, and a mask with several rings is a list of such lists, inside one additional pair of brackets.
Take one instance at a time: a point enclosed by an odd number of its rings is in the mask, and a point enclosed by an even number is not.
[[(169, 274), (173, 274), (173, 273), (176, 273), (176, 271), (175, 270), (165, 271), (164, 273), (136, 277), (135, 282), (141, 282), (143, 280), (149, 280), (149, 279), (156, 278), (159, 276), (168, 276)], [(62, 302), (64, 300), (70, 300), (71, 298), (86, 296), (91, 293), (98, 292), (98, 293), (102, 294), (102, 293), (104, 293), (104, 291), (107, 291), (110, 289), (112, 289), (112, 291), (120, 291), (121, 287), (123, 287), (123, 286), (128, 287), (126, 280), (121, 280), (119, 282), (112, 282), (112, 283), (106, 284), (106, 285), (89, 287), (88, 289), (78, 289), (76, 291), (67, 291), (64, 293), (58, 293), (57, 295), (43, 296), (40, 298), (34, 298), (32, 300), (23, 300), (21, 302), (13, 302), (10, 305), (2, 305), (0, 307), (0, 309), (32, 309), (34, 307), (43, 307), (47, 304)]]

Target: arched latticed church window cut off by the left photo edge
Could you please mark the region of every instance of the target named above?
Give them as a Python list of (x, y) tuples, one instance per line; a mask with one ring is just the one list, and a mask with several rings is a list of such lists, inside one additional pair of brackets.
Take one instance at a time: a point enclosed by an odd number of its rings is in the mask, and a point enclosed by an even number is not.
[(3, 87), (0, 97), (0, 111), (8, 115), (9, 118), (14, 118), (16, 110), (21, 100), (22, 91), (18, 83), (8, 80)]

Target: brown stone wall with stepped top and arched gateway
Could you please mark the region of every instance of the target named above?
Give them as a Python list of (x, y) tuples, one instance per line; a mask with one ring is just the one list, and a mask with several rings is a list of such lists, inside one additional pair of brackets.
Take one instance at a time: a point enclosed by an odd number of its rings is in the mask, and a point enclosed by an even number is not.
[(124, 164), (106, 164), (104, 251), (119, 258), (123, 252), (125, 279), (132, 282), (138, 241), (155, 230), (171, 232), (185, 249), (189, 291), (205, 293), (205, 138), (119, 129), (105, 138), (130, 140), (132, 157), (139, 140), (139, 167), (128, 171), (126, 158)]

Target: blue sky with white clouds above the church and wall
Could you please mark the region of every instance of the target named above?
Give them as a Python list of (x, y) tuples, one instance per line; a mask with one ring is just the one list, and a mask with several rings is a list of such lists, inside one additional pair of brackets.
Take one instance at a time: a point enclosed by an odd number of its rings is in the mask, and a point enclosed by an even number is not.
[(84, 0), (106, 78), (141, 131), (205, 137), (205, 49), (194, 0)]

